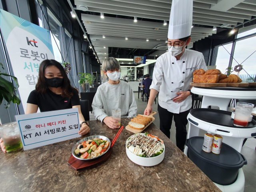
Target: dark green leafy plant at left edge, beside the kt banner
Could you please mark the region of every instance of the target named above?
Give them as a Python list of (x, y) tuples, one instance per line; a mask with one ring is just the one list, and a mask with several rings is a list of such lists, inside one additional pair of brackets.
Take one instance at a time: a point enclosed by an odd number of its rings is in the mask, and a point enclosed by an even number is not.
[[(0, 63), (0, 66), (4, 69), (2, 63)], [(14, 87), (12, 82), (9, 82), (4, 78), (2, 78), (1, 77), (2, 75), (11, 77), (16, 83), (17, 88), (19, 88), (18, 80), (16, 77), (6, 73), (1, 73), (0, 71), (0, 105), (2, 104), (3, 99), (5, 99), (8, 102), (5, 108), (8, 108), (11, 102), (19, 105), (20, 99), (18, 98), (18, 94), (17, 95), (15, 94), (16, 88)]]

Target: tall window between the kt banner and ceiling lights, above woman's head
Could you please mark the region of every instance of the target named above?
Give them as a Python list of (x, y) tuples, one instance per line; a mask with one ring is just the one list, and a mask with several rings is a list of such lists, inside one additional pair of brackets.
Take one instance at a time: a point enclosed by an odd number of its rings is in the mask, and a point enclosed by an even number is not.
[[(60, 50), (63, 53), (61, 24), (57, 23), (57, 21), (54, 19), (54, 16), (51, 14), (51, 12), (49, 10), (47, 10), (47, 12), (48, 12), (48, 20), (49, 20), (50, 29), (52, 30), (52, 32), (50, 34), (51, 34), (54, 58), (56, 61), (62, 63), (64, 61), (62, 61), (62, 56), (60, 54)], [(60, 50), (59, 50), (59, 48), (60, 48)]]

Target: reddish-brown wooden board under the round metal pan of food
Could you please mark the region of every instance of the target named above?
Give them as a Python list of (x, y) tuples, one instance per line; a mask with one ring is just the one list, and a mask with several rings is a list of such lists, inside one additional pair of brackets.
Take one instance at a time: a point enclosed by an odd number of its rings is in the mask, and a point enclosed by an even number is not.
[[(110, 141), (112, 142), (112, 139), (110, 139)], [(71, 155), (68, 160), (68, 166), (70, 166), (72, 169), (76, 171), (94, 168), (106, 162), (110, 158), (111, 154), (112, 148), (110, 147), (110, 149), (101, 158), (92, 161), (79, 160), (77, 158), (74, 158), (73, 155)]]

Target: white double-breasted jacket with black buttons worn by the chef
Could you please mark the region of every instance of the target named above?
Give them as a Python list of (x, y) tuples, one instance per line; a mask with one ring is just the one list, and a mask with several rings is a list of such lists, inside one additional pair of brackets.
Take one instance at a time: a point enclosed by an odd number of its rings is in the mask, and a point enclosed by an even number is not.
[(189, 110), (192, 106), (191, 95), (180, 103), (172, 99), (180, 96), (176, 92), (190, 89), (193, 72), (198, 69), (207, 70), (203, 54), (194, 50), (185, 49), (180, 60), (176, 60), (170, 52), (157, 58), (150, 89), (160, 90), (158, 104), (172, 113)]

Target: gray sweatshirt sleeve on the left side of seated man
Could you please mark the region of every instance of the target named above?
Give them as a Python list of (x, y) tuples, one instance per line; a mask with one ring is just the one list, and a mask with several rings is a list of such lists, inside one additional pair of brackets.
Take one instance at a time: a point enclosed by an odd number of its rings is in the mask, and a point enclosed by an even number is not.
[(103, 109), (103, 103), (102, 103), (102, 98), (100, 96), (100, 91), (99, 89), (97, 90), (93, 101), (92, 101), (92, 112), (97, 120), (100, 120), (101, 122), (104, 120), (105, 117), (108, 117), (108, 115), (104, 112)]

